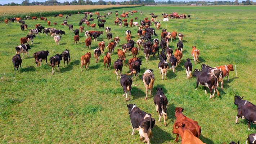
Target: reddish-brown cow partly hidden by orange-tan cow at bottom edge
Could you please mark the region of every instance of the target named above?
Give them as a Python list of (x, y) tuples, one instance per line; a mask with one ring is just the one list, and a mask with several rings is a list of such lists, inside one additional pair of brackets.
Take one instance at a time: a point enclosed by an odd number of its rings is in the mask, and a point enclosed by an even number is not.
[[(192, 132), (192, 134), (194, 136), (196, 136), (197, 138), (199, 138), (199, 136), (201, 134), (201, 126), (198, 125), (198, 122), (184, 116), (184, 114), (182, 113), (183, 111), (184, 111), (184, 109), (181, 107), (175, 108), (176, 121), (173, 125), (172, 133), (176, 134), (176, 140), (175, 140), (176, 142), (178, 142), (180, 132), (177, 130), (175, 125), (179, 122), (184, 123), (185, 124), (184, 128), (187, 130), (190, 130)], [(180, 134), (180, 136), (181, 136), (181, 139), (183, 139), (181, 134)]]

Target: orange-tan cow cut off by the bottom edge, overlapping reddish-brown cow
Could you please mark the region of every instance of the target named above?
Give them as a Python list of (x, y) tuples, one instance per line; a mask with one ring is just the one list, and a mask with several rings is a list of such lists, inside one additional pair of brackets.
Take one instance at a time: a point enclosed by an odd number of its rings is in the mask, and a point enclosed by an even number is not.
[(174, 129), (179, 132), (181, 137), (181, 144), (205, 144), (199, 138), (193, 135), (193, 133), (186, 129), (186, 124), (183, 122), (175, 123)]

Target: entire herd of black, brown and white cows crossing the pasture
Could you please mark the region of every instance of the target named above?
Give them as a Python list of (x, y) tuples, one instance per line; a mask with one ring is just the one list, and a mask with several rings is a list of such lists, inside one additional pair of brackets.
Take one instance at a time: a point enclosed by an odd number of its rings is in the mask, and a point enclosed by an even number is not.
[[(130, 11), (130, 14), (132, 15), (133, 13), (136, 13), (137, 11)], [(78, 13), (80, 14), (80, 12)], [(77, 44), (79, 42), (79, 31), (82, 33), (84, 31), (84, 26), (82, 26), (82, 23), (86, 23), (87, 26), (91, 26), (91, 28), (95, 28), (96, 24), (90, 24), (91, 21), (94, 21), (93, 13), (91, 12), (84, 12), (82, 14), (85, 14), (85, 17), (81, 19), (79, 22), (79, 30), (73, 30), (73, 25), (67, 24), (67, 19), (68, 15), (66, 16), (66, 19), (63, 21), (64, 26), (68, 26), (69, 30), (74, 31), (75, 36), (74, 36), (74, 44)], [(104, 13), (105, 14), (105, 13)], [(99, 12), (96, 12), (95, 15), (97, 15), (97, 18), (104, 18), (107, 16), (110, 16), (112, 12), (107, 13), (104, 16), (101, 16)], [(143, 12), (140, 11), (140, 14), (143, 14)], [(153, 57), (155, 57), (156, 53), (158, 53), (158, 57), (160, 59), (160, 62), (158, 63), (158, 68), (160, 69), (160, 74), (162, 74), (162, 80), (166, 73), (167, 70), (169, 69), (169, 64), (170, 64), (170, 69), (172, 69), (173, 72), (175, 72), (175, 67), (177, 67), (181, 63), (181, 58), (183, 57), (183, 37), (184, 35), (182, 33), (178, 33), (176, 31), (173, 32), (167, 32), (166, 29), (163, 29), (161, 32), (161, 40), (155, 38), (151, 39), (151, 36), (157, 36), (155, 29), (151, 27), (152, 22), (154, 22), (154, 26), (156, 26), (157, 30), (160, 28), (160, 22), (155, 22), (154, 18), (157, 18), (156, 15), (151, 13), (152, 19), (151, 21), (148, 20), (148, 18), (144, 18), (144, 20), (140, 21), (140, 26), (138, 22), (133, 22), (133, 19), (130, 20), (130, 27), (139, 27), (137, 31), (138, 35), (138, 40), (136, 41), (137, 47), (135, 47), (135, 42), (132, 40), (131, 37), (131, 31), (126, 30), (126, 40), (127, 44), (122, 44), (121, 49), (117, 50), (117, 55), (118, 59), (114, 62), (114, 73), (116, 73), (117, 80), (118, 80), (118, 71), (120, 71), (120, 84), (123, 87), (124, 94), (123, 96), (126, 96), (126, 101), (130, 100), (130, 95), (131, 95), (131, 89), (133, 84), (133, 75), (135, 75), (135, 78), (138, 77), (138, 74), (140, 73), (140, 66), (142, 65), (142, 59), (136, 57), (139, 51), (143, 48), (143, 53), (145, 54), (145, 59), (146, 61), (149, 60), (149, 56), (152, 54)], [(163, 18), (166, 18), (169, 16), (170, 18), (186, 18), (186, 15), (178, 15), (178, 13), (172, 13), (172, 14), (162, 14)], [(54, 15), (54, 17), (57, 17), (58, 15)], [(71, 14), (69, 14), (71, 16)], [(90, 16), (90, 19), (87, 20), (87, 16)], [(125, 19), (118, 18), (118, 12), (116, 11), (116, 21), (114, 21), (114, 24), (119, 25), (120, 27), (122, 26), (122, 22), (124, 22), (124, 26), (128, 27), (127, 23), (127, 17), (129, 17), (128, 12), (123, 12), (121, 14), (121, 17)], [(63, 17), (62, 14), (59, 14), (59, 17)], [(188, 15), (188, 18), (190, 15)], [(27, 19), (30, 19), (30, 16), (26, 17)], [(36, 17), (32, 17), (32, 20), (35, 19), (37, 20)], [(45, 22), (47, 21), (47, 18), (40, 18), (41, 20), (44, 20)], [(21, 18), (9, 18), (10, 21), (14, 22), (17, 21), (21, 23), (21, 30), (24, 31), (24, 28), (27, 29), (27, 25), (25, 24), (24, 21), (21, 20)], [(137, 17), (135, 17), (135, 20), (138, 20)], [(6, 19), (6, 24), (8, 23), (8, 19)], [(100, 22), (100, 23), (99, 23)], [(104, 28), (104, 23), (106, 21), (104, 19), (98, 19), (98, 26), (99, 28)], [(56, 23), (57, 24), (57, 23)], [(50, 22), (48, 21), (48, 25), (50, 26)], [(12, 62), (14, 66), (14, 72), (16, 73), (15, 68), (17, 70), (19, 69), (19, 66), (21, 66), (22, 63), (22, 58), (21, 58), (21, 53), (27, 53), (28, 55), (28, 49), (30, 48), (30, 45), (28, 44), (29, 41), (32, 41), (31, 44), (33, 44), (33, 39), (37, 36), (39, 36), (39, 32), (41, 33), (50, 33), (51, 37), (54, 36), (54, 40), (56, 42), (56, 45), (59, 44), (61, 35), (64, 34), (65, 32), (62, 30), (56, 30), (55, 28), (45, 28), (41, 26), (40, 24), (36, 24), (36, 28), (33, 30), (30, 30), (30, 34), (28, 34), (26, 37), (22, 37), (21, 40), (21, 45), (16, 46), (16, 55), (13, 57)], [(114, 41), (111, 42), (111, 39), (113, 37), (113, 34), (111, 33), (111, 28), (106, 27), (105, 32), (107, 33), (107, 39), (109, 44), (106, 46), (106, 49), (108, 48), (108, 52), (105, 54), (103, 60), (104, 60), (104, 69), (107, 64), (107, 69), (111, 66), (111, 53), (113, 53), (114, 48), (119, 45), (120, 42), (120, 37), (114, 37)], [(85, 36), (85, 44), (86, 48), (90, 49), (91, 48), (91, 42), (92, 42), (92, 37), (94, 37), (94, 41), (97, 41), (99, 39), (99, 36), (103, 34), (103, 31), (86, 31)], [(179, 42), (177, 43), (177, 49), (175, 51), (169, 47), (169, 41), (172, 39), (176, 39), (176, 36), (179, 37)], [(26, 43), (26, 44), (25, 44)], [(161, 47), (161, 52), (159, 53), (159, 44)], [(104, 48), (105, 48), (105, 42), (100, 41), (98, 44), (98, 48), (94, 49), (94, 57), (96, 63), (99, 62), (99, 57), (101, 54), (104, 53)], [(125, 64), (125, 58), (126, 58), (126, 51), (132, 52), (133, 58), (129, 59), (129, 62), (126, 64), (126, 66), (129, 65), (130, 72), (127, 74), (122, 74), (122, 67)], [(174, 54), (173, 54), (174, 51)], [(192, 46), (192, 52), (191, 52), (194, 63), (197, 64), (197, 62), (200, 62), (198, 60), (199, 57), (199, 50), (196, 48), (196, 46)], [(40, 66), (42, 63), (42, 60), (46, 60), (47, 63), (47, 57), (49, 55), (49, 51), (37, 51), (36, 53), (33, 54), (35, 58), (35, 63), (36, 66)], [(91, 53), (87, 52), (85, 55), (81, 56), (81, 71), (83, 66), (87, 69), (90, 64), (90, 58), (91, 58)], [(64, 66), (65, 61), (68, 64), (70, 61), (70, 54), (69, 50), (64, 50), (62, 54), (56, 54), (53, 57), (50, 57), (50, 65), (52, 66), (52, 74), (54, 73), (54, 67), (58, 65), (59, 69), (59, 64), (60, 60), (64, 59)], [(192, 77), (192, 67), (193, 64), (191, 62), (190, 58), (186, 59), (186, 62), (184, 64), (187, 79)], [(224, 66), (219, 66), (219, 67), (210, 67), (207, 66), (206, 64), (201, 65), (202, 70), (194, 69), (193, 76), (196, 77), (197, 80), (197, 85), (196, 89), (198, 87), (198, 84), (202, 85), (205, 87), (205, 93), (206, 87), (210, 90), (210, 98), (214, 98), (215, 93), (219, 96), (219, 91), (217, 90), (217, 87), (219, 86), (219, 82), (221, 82), (221, 88), (223, 89), (223, 78), (227, 77), (229, 80), (229, 71), (234, 71), (233, 65), (228, 64)], [(129, 76), (131, 75), (131, 76)], [(152, 69), (147, 69), (143, 75), (142, 75), (142, 80), (143, 84), (145, 86), (145, 99), (148, 99), (148, 91), (149, 94), (152, 96), (153, 93), (153, 85), (155, 81), (155, 76), (153, 74)], [(137, 85), (135, 85), (137, 86)], [(213, 92), (212, 92), (213, 90)], [(161, 118), (163, 117), (164, 125), (166, 126), (166, 120), (167, 120), (167, 103), (168, 100), (165, 96), (165, 94), (162, 91), (162, 88), (157, 87), (156, 88), (156, 95), (153, 98), (154, 104), (156, 105), (156, 111), (159, 114), (159, 120), (158, 122), (161, 121)], [(240, 96), (235, 95), (234, 96), (234, 104), (237, 105), (238, 107), (238, 114), (237, 114), (237, 119), (236, 123), (238, 122), (238, 118), (241, 117), (242, 119), (246, 119), (248, 121), (248, 130), (250, 130), (250, 123), (255, 123), (256, 124), (256, 106), (250, 103), (247, 100), (243, 100), (243, 97), (241, 98)], [(131, 119), (131, 124), (132, 124), (132, 135), (134, 135), (134, 130), (139, 131), (140, 139), (143, 140), (143, 142), (146, 142), (149, 144), (149, 141), (152, 137), (152, 129), (155, 124), (154, 118), (152, 118), (150, 113), (146, 113), (139, 109), (135, 104), (127, 104), (128, 107), (128, 112), (130, 114), (130, 119)], [(176, 134), (176, 142), (178, 142), (179, 135), (181, 136), (181, 144), (203, 144), (203, 142), (199, 139), (199, 136), (201, 134), (201, 126), (199, 126), (197, 121), (194, 121), (188, 117), (186, 117), (183, 114), (184, 109), (181, 107), (176, 107), (175, 109), (175, 117), (176, 121), (173, 125), (173, 133)], [(246, 143), (249, 144), (254, 144), (256, 143), (256, 134), (251, 134), (248, 136)], [(235, 142), (230, 142), (230, 144), (236, 144)], [(239, 144), (239, 142), (238, 142)]]

